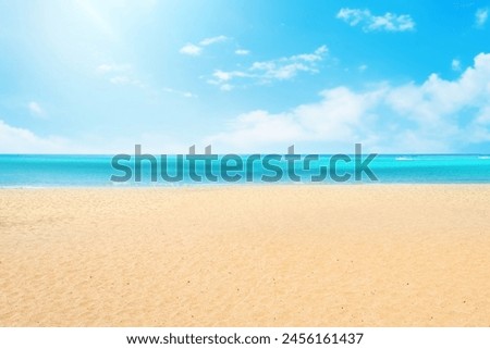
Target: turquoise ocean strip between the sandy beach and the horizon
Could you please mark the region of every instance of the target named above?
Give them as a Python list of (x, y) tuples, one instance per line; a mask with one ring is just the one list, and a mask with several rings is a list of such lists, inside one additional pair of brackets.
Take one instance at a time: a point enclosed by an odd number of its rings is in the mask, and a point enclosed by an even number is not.
[[(246, 162), (249, 155), (240, 155)], [(183, 172), (183, 180), (166, 182), (160, 175), (157, 182), (151, 180), (150, 165), (144, 162), (142, 180), (136, 182), (134, 175), (125, 182), (113, 182), (111, 176), (122, 176), (124, 173), (113, 169), (112, 155), (25, 155), (0, 154), (0, 188), (36, 188), (36, 187), (135, 187), (135, 186), (195, 186), (222, 184), (268, 184), (261, 180), (262, 175), (271, 175), (271, 171), (259, 163), (255, 163), (252, 177), (246, 178), (245, 172), (235, 171), (229, 174), (241, 174), (241, 179), (228, 183), (222, 178), (211, 182), (203, 178), (201, 182), (192, 180), (187, 170)], [(378, 155), (369, 169), (378, 180), (367, 176), (355, 180), (354, 176), (346, 182), (334, 182), (327, 177), (321, 182), (311, 182), (311, 174), (318, 174), (320, 165), (328, 166), (330, 155), (320, 155), (320, 160), (311, 164), (309, 171), (303, 165), (295, 169), (301, 184), (482, 184), (490, 183), (490, 155), (487, 154), (391, 154)], [(157, 157), (157, 159), (159, 159)], [(126, 163), (134, 174), (134, 161)], [(173, 174), (177, 164), (175, 157), (169, 157), (167, 169)], [(286, 173), (286, 161), (274, 163)], [(158, 166), (161, 161), (158, 162)], [(160, 169), (160, 167), (158, 167)], [(205, 165), (197, 163), (196, 172), (204, 176)], [(209, 170), (209, 169), (208, 169)], [(220, 174), (220, 163), (211, 166), (213, 174)], [(159, 171), (159, 170), (158, 170)], [(339, 162), (336, 173), (353, 173), (354, 164)], [(159, 173), (160, 174), (160, 173)], [(272, 184), (294, 184), (287, 175)]]

